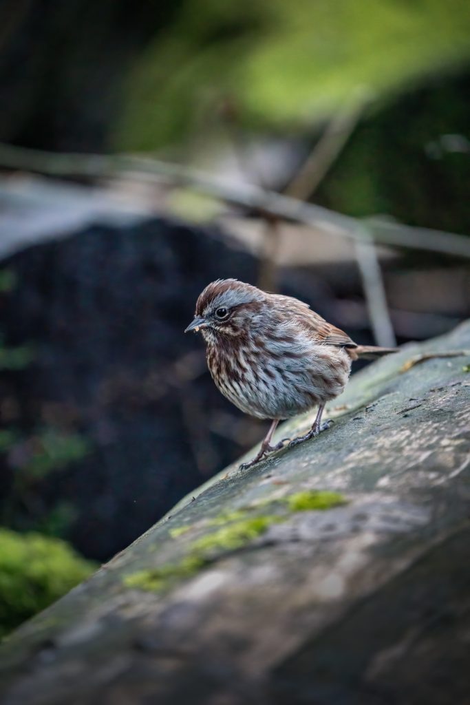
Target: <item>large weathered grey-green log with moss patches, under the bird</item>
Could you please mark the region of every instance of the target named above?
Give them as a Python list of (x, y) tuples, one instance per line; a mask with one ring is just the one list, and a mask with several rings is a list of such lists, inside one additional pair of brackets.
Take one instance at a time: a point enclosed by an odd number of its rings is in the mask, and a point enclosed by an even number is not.
[(185, 498), (11, 635), (1, 702), (468, 702), (469, 349), (372, 364), (317, 439)]

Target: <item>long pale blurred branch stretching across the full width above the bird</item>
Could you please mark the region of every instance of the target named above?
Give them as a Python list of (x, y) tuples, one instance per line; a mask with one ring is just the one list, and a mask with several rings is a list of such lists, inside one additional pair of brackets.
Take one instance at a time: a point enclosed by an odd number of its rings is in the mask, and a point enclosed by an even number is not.
[[(249, 184), (234, 184), (214, 178), (209, 173), (168, 164), (148, 157), (126, 154), (54, 154), (23, 147), (0, 144), (0, 166), (35, 171), (50, 176), (104, 177), (125, 173), (136, 180), (152, 180), (187, 185), (230, 204), (265, 211), (281, 219), (322, 228), (331, 235), (361, 240), (357, 220), (321, 206), (303, 203)], [(444, 252), (470, 258), (470, 240), (465, 235), (412, 228), (377, 218), (368, 220), (371, 235), (377, 242), (416, 250)]]

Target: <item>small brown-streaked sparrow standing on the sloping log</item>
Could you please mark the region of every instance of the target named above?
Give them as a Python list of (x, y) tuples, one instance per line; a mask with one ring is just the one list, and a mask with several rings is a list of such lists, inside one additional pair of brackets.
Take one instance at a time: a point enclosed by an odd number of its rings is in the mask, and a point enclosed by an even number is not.
[[(330, 422), (322, 422), (323, 410), (342, 393), (352, 362), (397, 351), (358, 345), (307, 303), (233, 278), (204, 288), (189, 331), (201, 331), (209, 372), (223, 396), (250, 416), (271, 419), (259, 453), (242, 469), (287, 441), (296, 446), (326, 430)], [(281, 420), (314, 407), (318, 412), (307, 434), (271, 445)]]

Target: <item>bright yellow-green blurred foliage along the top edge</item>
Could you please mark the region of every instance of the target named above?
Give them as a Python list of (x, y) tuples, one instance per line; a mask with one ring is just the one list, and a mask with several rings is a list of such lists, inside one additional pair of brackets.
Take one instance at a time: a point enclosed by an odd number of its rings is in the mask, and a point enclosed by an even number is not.
[(466, 0), (186, 0), (129, 81), (116, 142), (151, 149), (249, 128), (309, 128), (358, 91), (387, 97), (470, 57)]

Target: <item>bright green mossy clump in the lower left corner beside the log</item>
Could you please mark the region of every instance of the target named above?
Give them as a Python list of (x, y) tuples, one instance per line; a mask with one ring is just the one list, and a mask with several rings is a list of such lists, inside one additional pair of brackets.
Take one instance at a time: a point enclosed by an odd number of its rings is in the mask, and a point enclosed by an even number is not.
[(68, 544), (0, 529), (0, 635), (49, 606), (94, 570)]

